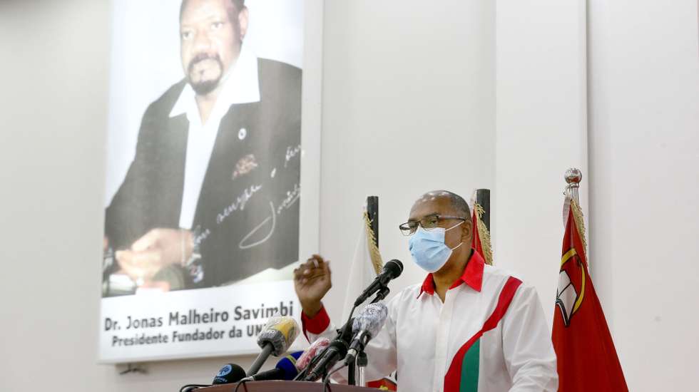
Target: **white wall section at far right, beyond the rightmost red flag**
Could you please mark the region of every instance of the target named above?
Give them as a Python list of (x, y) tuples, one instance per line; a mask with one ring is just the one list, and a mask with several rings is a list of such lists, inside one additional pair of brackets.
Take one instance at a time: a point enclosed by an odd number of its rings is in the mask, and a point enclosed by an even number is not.
[(631, 391), (696, 389), (698, 15), (589, 1), (593, 279)]

